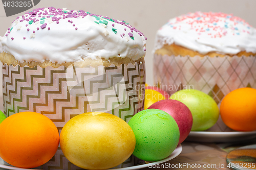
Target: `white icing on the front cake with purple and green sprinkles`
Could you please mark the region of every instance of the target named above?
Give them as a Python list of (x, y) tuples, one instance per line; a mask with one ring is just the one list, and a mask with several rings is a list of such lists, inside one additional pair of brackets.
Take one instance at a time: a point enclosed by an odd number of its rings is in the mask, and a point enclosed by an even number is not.
[[(133, 60), (137, 60), (145, 56), (146, 38), (143, 35), (140, 36), (142, 33), (135, 28), (129, 25), (125, 26), (125, 23), (121, 24), (122, 21), (116, 23), (101, 16), (87, 15), (84, 11), (70, 10), (66, 10), (65, 12), (86, 16), (78, 17), (77, 15), (76, 18), (68, 17), (64, 19), (62, 15), (47, 17), (51, 14), (51, 10), (45, 8), (37, 12), (35, 16), (31, 15), (31, 13), (36, 10), (25, 14), (25, 18), (34, 16), (31, 18), (39, 20), (35, 20), (36, 22), (32, 24), (29, 24), (27, 20), (20, 22), (23, 16), (13, 21), (10, 26), (12, 30), (10, 32), (7, 31), (6, 34), (8, 36), (5, 34), (2, 41), (0, 41), (0, 52), (12, 54), (21, 63), (24, 61), (44, 62), (45, 60), (58, 63), (79, 62), (83, 58), (96, 59), (96, 57), (105, 59), (111, 57), (130, 57)], [(55, 10), (62, 11), (62, 9)], [(43, 13), (45, 11), (48, 14), (44, 15)], [(42, 14), (39, 15), (40, 12)], [(63, 14), (68, 15), (68, 13), (64, 12)], [(42, 16), (45, 16), (45, 19), (41, 19)], [(52, 20), (53, 17), (59, 18), (60, 16), (59, 23), (57, 23), (56, 19), (54, 21)], [(72, 20), (73, 23), (68, 20)], [(104, 20), (108, 21), (107, 26), (103, 23), (96, 23)], [(45, 29), (41, 28), (45, 24), (40, 23), (41, 21), (47, 23)], [(48, 27), (50, 30), (48, 30)], [(112, 28), (116, 29), (116, 34)], [(134, 40), (128, 33), (133, 34)], [(124, 36), (120, 34), (124, 34)], [(12, 40), (12, 38), (14, 39)], [(127, 39), (130, 40), (127, 41)]]

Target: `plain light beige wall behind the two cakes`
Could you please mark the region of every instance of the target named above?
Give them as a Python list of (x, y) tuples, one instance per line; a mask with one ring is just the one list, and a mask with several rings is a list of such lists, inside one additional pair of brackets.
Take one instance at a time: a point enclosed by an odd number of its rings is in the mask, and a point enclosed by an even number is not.
[[(14, 0), (10, 0), (14, 1)], [(153, 48), (157, 30), (168, 19), (188, 12), (224, 12), (245, 19), (256, 28), (255, 0), (41, 0), (35, 8), (55, 7), (84, 10), (98, 15), (125, 20), (147, 37), (146, 83), (153, 85)], [(19, 15), (6, 17), (0, 4), (0, 35), (4, 36), (11, 22)], [(0, 80), (2, 82), (2, 79)], [(1, 83), (2, 84), (2, 83)], [(2, 88), (0, 89), (0, 94)]]

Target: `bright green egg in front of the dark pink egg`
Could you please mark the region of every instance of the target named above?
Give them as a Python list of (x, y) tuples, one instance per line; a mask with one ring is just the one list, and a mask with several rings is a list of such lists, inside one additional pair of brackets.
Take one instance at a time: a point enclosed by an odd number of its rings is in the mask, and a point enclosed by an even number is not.
[(176, 149), (180, 132), (172, 116), (158, 109), (135, 114), (128, 123), (136, 138), (133, 154), (145, 161), (159, 161)]

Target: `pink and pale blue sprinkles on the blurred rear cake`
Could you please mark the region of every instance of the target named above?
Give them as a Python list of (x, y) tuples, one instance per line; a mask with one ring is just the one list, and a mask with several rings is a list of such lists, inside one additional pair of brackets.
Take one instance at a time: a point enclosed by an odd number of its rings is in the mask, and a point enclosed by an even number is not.
[[(188, 13), (176, 17), (172, 22), (168, 22), (167, 25), (170, 28), (181, 30), (184, 23), (190, 27), (190, 30), (194, 30), (196, 34), (206, 34), (212, 38), (221, 38), (226, 35), (240, 35), (243, 30), (239, 30), (239, 27), (236, 27), (238, 24), (247, 26), (248, 29), (251, 27), (245, 20), (239, 17), (220, 12)], [(228, 30), (232, 30), (232, 33), (228, 34), (230, 33)], [(211, 33), (206, 33), (208, 31), (211, 31)], [(243, 33), (246, 33), (246, 31)]]

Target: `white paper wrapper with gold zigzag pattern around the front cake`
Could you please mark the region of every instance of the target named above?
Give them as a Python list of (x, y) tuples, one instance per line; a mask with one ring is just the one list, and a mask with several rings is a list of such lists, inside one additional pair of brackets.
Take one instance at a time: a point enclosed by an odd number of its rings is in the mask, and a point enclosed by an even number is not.
[[(114, 114), (126, 122), (144, 108), (145, 65), (104, 67), (35, 66), (2, 64), (4, 114), (34, 111), (62, 127), (74, 116), (91, 111)], [(138, 163), (131, 156), (117, 167)], [(65, 158), (60, 148), (41, 169), (81, 169)]]

